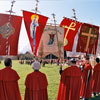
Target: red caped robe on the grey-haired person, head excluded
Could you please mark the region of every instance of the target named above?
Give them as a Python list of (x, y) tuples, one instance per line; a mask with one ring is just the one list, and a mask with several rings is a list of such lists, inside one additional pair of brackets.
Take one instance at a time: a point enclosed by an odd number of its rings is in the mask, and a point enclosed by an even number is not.
[(35, 71), (27, 75), (24, 100), (48, 100), (47, 78), (45, 74)]

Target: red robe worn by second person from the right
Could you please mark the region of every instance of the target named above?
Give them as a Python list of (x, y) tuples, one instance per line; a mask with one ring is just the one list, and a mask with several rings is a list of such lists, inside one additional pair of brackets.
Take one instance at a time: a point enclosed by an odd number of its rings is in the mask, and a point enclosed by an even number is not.
[[(89, 74), (90, 72), (90, 74)], [(83, 98), (90, 98), (92, 95), (92, 66), (90, 64), (85, 64), (82, 73), (82, 86), (80, 96)]]

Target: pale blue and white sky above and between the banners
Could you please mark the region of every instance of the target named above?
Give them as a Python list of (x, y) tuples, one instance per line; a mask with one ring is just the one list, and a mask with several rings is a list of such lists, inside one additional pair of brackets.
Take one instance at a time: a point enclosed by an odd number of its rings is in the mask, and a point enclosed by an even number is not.
[[(7, 13), (11, 8), (12, 0), (0, 0), (0, 13)], [(35, 0), (15, 0), (14, 15), (22, 15), (22, 10), (32, 11), (35, 8)], [(100, 26), (100, 0), (39, 0), (38, 10), (41, 15), (49, 17), (48, 23), (53, 23), (52, 13), (56, 14), (57, 24), (60, 24), (63, 17), (72, 19), (73, 11), (76, 10), (78, 21), (91, 23)], [(24, 22), (22, 21), (18, 52), (31, 51)]]

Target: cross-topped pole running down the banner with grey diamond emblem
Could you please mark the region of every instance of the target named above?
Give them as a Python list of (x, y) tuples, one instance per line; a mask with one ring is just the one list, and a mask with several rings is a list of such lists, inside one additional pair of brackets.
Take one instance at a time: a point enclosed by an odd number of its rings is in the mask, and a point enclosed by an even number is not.
[(9, 49), (8, 34), (9, 34), (9, 31), (10, 31), (11, 16), (12, 16), (12, 13), (15, 13), (15, 12), (13, 12), (13, 10), (12, 10), (15, 2), (16, 2), (16, 1), (13, 0), (13, 1), (11, 2), (11, 9), (10, 9), (9, 11), (6, 11), (6, 12), (9, 12), (9, 13), (10, 13), (9, 19), (8, 19), (7, 36), (6, 36), (6, 56), (8, 56), (8, 49)]

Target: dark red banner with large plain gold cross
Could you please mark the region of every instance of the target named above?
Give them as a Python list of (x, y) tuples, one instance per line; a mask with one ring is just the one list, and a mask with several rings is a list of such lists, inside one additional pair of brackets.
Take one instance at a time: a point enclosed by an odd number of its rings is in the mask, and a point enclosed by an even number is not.
[(77, 52), (96, 54), (99, 37), (99, 27), (84, 23), (81, 27)]

